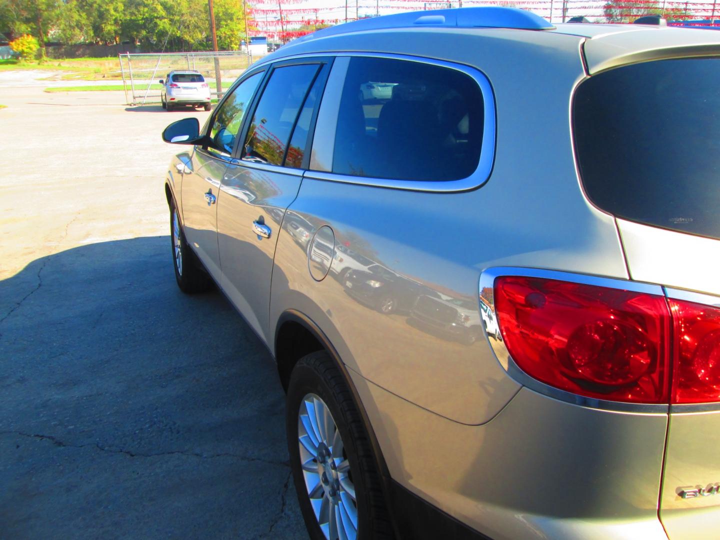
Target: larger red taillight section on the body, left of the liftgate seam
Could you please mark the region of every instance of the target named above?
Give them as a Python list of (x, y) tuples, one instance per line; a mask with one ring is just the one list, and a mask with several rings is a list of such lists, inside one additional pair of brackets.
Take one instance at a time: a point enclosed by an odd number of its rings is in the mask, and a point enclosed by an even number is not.
[(665, 297), (505, 276), (495, 302), (510, 356), (531, 377), (602, 400), (667, 402)]

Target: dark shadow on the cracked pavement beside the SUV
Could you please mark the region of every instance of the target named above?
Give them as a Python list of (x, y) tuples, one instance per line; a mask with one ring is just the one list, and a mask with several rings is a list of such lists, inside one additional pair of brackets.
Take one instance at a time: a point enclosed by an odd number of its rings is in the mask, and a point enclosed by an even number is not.
[(168, 237), (39, 258), (0, 282), (0, 531), (307, 538), (271, 356)]

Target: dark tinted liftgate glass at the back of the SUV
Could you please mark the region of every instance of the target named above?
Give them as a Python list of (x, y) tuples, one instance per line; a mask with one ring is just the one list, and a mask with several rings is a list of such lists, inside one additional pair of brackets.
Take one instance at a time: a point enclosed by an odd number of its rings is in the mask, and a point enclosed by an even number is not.
[(588, 78), (572, 105), (582, 185), (626, 220), (720, 239), (720, 58)]

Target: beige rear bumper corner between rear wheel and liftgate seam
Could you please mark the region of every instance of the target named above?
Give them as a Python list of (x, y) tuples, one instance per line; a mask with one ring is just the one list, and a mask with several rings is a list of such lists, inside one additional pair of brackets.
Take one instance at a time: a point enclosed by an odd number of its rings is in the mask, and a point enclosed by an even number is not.
[(495, 418), (467, 426), (351, 376), (392, 479), (472, 531), (667, 540), (657, 516), (666, 414), (581, 407), (523, 388)]

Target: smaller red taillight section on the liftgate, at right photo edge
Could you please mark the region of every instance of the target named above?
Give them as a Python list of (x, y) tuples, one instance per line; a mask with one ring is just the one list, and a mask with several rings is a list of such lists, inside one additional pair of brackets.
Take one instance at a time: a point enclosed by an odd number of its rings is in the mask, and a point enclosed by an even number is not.
[(673, 403), (720, 401), (720, 310), (668, 300), (675, 331)]

